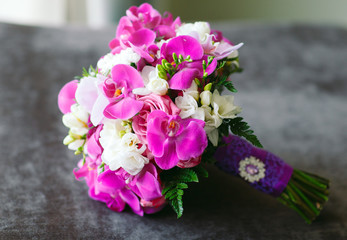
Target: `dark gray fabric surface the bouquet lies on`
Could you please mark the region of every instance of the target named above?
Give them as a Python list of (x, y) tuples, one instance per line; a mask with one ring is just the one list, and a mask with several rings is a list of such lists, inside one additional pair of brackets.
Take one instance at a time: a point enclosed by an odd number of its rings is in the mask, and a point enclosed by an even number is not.
[(209, 167), (173, 211), (139, 217), (91, 200), (72, 174), (78, 157), (56, 99), (106, 53), (114, 29), (0, 24), (0, 239), (346, 239), (347, 31), (215, 24), (244, 42), (236, 104), (268, 150), (330, 178), (331, 197), (307, 225), (294, 211)]

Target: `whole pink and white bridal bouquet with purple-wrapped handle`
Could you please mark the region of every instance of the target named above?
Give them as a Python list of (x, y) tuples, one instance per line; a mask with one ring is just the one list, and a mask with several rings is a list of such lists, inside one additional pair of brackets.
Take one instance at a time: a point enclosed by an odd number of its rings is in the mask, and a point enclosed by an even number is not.
[(183, 213), (188, 183), (220, 169), (277, 197), (311, 222), (327, 201), (328, 180), (293, 170), (262, 149), (229, 76), (238, 49), (207, 22), (181, 23), (145, 3), (119, 21), (110, 52), (60, 91), (69, 128), (64, 144), (83, 157), (75, 169), (92, 199), (138, 215), (170, 204)]

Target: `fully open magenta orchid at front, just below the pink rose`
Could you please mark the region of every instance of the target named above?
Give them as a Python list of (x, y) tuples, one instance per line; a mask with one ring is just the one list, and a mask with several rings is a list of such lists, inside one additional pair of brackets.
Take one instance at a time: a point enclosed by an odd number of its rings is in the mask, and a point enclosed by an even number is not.
[(148, 148), (161, 169), (173, 168), (180, 160), (199, 157), (207, 147), (202, 120), (181, 119), (155, 110), (147, 121)]

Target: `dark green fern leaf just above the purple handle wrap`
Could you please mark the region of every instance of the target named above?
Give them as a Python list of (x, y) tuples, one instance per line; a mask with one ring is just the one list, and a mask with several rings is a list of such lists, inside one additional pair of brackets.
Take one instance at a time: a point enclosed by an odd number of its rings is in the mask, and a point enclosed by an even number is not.
[(251, 142), (254, 146), (262, 148), (260, 141), (257, 136), (254, 135), (254, 131), (250, 129), (248, 123), (243, 121), (242, 117), (236, 117), (233, 119), (228, 119), (228, 125), (230, 131), (235, 135), (246, 138), (249, 142)]

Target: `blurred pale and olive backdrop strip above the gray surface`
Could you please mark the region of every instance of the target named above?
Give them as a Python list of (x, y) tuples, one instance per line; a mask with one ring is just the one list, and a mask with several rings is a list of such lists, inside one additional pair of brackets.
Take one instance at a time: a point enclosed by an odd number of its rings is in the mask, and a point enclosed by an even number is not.
[[(117, 23), (135, 0), (0, 0), (0, 21), (39, 26)], [(346, 0), (150, 0), (159, 12), (183, 21), (316, 23), (347, 27)]]

